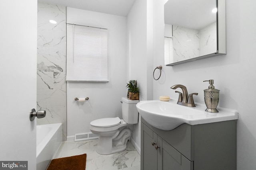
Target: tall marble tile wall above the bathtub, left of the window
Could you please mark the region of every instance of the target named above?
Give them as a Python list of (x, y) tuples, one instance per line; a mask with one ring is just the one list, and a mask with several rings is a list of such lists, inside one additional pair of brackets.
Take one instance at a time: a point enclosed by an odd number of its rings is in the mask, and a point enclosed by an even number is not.
[[(54, 20), (56, 23), (50, 23)], [(66, 141), (66, 7), (38, 2), (37, 124), (62, 123)]]

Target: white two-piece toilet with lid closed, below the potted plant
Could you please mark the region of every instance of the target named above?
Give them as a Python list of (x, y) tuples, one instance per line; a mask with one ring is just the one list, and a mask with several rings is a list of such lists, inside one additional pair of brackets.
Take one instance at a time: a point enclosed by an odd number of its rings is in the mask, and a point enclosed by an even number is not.
[(99, 154), (112, 154), (126, 149), (131, 136), (129, 126), (138, 123), (136, 104), (139, 100), (122, 97), (122, 117), (96, 119), (90, 123), (92, 133), (99, 136), (96, 151)]

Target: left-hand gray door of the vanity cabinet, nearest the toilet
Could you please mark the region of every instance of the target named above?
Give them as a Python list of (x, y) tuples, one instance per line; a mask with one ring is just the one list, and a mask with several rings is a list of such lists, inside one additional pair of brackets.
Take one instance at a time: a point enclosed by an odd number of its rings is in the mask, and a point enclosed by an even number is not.
[(157, 150), (154, 145), (157, 143), (157, 135), (143, 123), (141, 125), (141, 170), (157, 170)]

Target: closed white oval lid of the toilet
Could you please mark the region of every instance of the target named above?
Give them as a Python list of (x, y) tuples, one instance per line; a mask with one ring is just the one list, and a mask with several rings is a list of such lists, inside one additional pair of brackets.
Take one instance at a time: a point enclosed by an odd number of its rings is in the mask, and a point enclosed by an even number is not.
[(112, 127), (119, 125), (121, 120), (119, 117), (103, 118), (92, 121), (90, 124), (94, 127)]

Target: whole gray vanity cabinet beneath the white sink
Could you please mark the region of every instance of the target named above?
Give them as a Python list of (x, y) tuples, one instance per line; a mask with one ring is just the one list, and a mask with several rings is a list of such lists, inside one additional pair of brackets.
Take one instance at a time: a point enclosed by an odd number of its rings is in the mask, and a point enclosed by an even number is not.
[(141, 170), (236, 170), (236, 120), (163, 131), (142, 118)]

